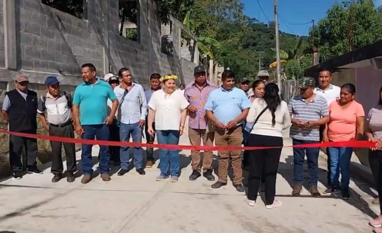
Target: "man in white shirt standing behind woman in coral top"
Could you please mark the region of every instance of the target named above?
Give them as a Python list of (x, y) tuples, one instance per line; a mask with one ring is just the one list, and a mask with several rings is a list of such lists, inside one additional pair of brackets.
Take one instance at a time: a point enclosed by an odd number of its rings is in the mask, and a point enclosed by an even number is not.
[[(332, 76), (330, 70), (325, 68), (321, 69), (318, 73), (318, 87), (315, 88), (314, 93), (318, 96), (325, 98), (327, 105), (329, 106), (331, 102), (339, 99), (339, 94), (341, 88), (331, 84)], [(320, 127), (320, 139), (322, 139), (322, 131), (324, 125)], [(331, 186), (330, 182), (330, 155), (329, 151), (326, 150), (327, 155), (327, 185)]]

